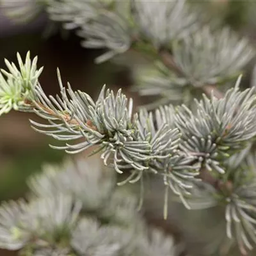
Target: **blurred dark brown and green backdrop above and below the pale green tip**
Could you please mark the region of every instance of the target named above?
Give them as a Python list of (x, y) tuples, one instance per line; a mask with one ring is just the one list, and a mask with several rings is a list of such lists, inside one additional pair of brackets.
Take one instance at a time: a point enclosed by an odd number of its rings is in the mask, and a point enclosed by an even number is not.
[[(56, 67), (63, 72), (63, 81), (90, 95), (98, 93), (102, 84), (126, 86), (127, 69), (111, 63), (95, 65), (97, 51), (80, 47), (79, 38), (70, 35), (65, 40), (60, 34), (44, 38), (47, 20), (38, 17), (31, 24), (13, 24), (0, 10), (0, 68), (4, 58), (15, 61), (15, 52), (22, 56), (28, 51), (37, 55), (39, 65), (44, 63), (41, 82), (45, 91), (56, 94), (59, 90)], [(76, 63), (76, 65), (74, 65)], [(52, 82), (54, 81), (54, 82)], [(60, 162), (65, 153), (52, 150), (51, 139), (41, 136), (29, 126), (28, 113), (10, 113), (0, 119), (0, 198), (17, 198), (26, 191), (26, 179), (32, 172), (40, 171), (42, 163)], [(34, 116), (35, 117), (35, 116)]]

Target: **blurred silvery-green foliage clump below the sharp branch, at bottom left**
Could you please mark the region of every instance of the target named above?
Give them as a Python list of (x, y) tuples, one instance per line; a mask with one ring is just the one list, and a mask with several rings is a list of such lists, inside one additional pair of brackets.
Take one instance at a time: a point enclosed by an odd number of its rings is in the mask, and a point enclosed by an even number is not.
[(173, 238), (149, 228), (136, 199), (99, 161), (46, 165), (28, 201), (0, 207), (0, 246), (21, 255), (175, 255)]

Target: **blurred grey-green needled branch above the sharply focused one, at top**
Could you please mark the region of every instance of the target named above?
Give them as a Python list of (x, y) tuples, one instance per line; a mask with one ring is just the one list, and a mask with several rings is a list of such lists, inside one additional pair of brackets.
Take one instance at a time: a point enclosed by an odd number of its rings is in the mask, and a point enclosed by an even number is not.
[[(227, 82), (255, 55), (246, 38), (228, 27), (216, 28), (216, 20), (205, 24), (202, 6), (186, 0), (31, 2), (24, 1), (21, 12), (19, 3), (3, 1), (3, 11), (19, 20), (33, 13), (31, 9), (45, 8), (49, 19), (61, 22), (65, 29), (76, 29), (83, 47), (106, 49), (97, 63), (130, 51), (151, 58), (147, 68), (134, 70), (135, 89), (141, 95), (157, 96), (148, 108), (170, 102), (190, 105), (202, 92), (210, 95), (212, 87), (227, 90)], [(10, 8), (20, 10), (19, 15)]]

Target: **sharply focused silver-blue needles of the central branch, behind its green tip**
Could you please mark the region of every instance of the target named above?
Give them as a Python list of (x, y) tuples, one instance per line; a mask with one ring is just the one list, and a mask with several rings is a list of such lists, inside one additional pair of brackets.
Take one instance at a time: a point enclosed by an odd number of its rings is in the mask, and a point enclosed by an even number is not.
[[(28, 57), (26, 61), (29, 63)], [(14, 64), (12, 68), (10, 72), (20, 77)], [(36, 67), (32, 69), (36, 72)], [(6, 76), (14, 76), (14, 73)], [(31, 121), (36, 131), (57, 140), (84, 139), (84, 142), (78, 144), (67, 143), (64, 147), (53, 148), (75, 154), (92, 145), (99, 145), (104, 163), (108, 164), (109, 161), (116, 172), (133, 169), (122, 184), (141, 180), (144, 172), (159, 173), (164, 177), (164, 184), (170, 186), (189, 208), (185, 195), (190, 195), (189, 190), (193, 188), (198, 175), (216, 187), (218, 182), (210, 174), (204, 174), (205, 168), (208, 172), (214, 170), (220, 174), (225, 173), (221, 157), (229, 156), (227, 152), (230, 145), (232, 149), (240, 150), (244, 141), (256, 134), (253, 129), (253, 90), (239, 92), (240, 80), (241, 77), (235, 89), (228, 91), (223, 99), (212, 95), (211, 99), (204, 97), (203, 101), (196, 102), (196, 114), (186, 106), (178, 107), (175, 113), (172, 106), (169, 106), (159, 108), (155, 113), (141, 110), (132, 117), (132, 100), (127, 105), (127, 99), (121, 91), (114, 97), (109, 90), (105, 93), (103, 87), (98, 100), (94, 102), (86, 93), (74, 92), (70, 84), (66, 90), (59, 71), (61, 97), (47, 97), (40, 84), (30, 88), (30, 95), (34, 97), (32, 100), (26, 98), (27, 94), (20, 94), (20, 97), (24, 97), (21, 102), (24, 102), (26, 109), (33, 109), (37, 115), (49, 121), (49, 125)], [(17, 81), (24, 84), (20, 78)], [(246, 99), (246, 104), (243, 99)], [(198, 119), (198, 115), (201, 119)], [(209, 115), (211, 121), (208, 120)], [(240, 119), (237, 119), (238, 116)], [(241, 122), (246, 125), (246, 133), (239, 132), (239, 129), (243, 129)]]

